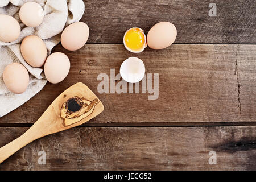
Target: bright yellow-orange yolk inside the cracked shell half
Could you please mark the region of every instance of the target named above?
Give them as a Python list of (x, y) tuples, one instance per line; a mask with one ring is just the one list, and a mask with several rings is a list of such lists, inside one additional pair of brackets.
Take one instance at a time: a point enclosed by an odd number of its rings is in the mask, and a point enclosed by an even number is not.
[(144, 34), (139, 28), (133, 28), (126, 32), (125, 44), (133, 51), (139, 51), (144, 47)]

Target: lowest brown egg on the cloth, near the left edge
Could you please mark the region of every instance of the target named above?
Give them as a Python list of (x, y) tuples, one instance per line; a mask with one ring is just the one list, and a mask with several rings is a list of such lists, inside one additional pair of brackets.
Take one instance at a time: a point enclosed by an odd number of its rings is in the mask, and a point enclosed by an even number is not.
[(30, 81), (27, 69), (19, 63), (11, 63), (3, 71), (3, 82), (11, 92), (20, 94), (26, 91)]

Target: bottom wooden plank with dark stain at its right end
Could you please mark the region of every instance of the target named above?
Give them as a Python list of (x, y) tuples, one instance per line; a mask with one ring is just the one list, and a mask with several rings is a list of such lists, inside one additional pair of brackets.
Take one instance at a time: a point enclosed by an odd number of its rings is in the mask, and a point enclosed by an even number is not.
[[(26, 129), (0, 128), (0, 146)], [(255, 170), (255, 142), (255, 126), (74, 128), (36, 140), (0, 170)]]

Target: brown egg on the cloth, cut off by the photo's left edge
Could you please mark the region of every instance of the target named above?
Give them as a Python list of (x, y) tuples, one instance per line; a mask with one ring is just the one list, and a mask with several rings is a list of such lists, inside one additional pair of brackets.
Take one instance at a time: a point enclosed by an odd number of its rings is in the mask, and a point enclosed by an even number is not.
[(13, 42), (18, 39), (20, 26), (13, 16), (0, 14), (0, 40), (2, 42)]

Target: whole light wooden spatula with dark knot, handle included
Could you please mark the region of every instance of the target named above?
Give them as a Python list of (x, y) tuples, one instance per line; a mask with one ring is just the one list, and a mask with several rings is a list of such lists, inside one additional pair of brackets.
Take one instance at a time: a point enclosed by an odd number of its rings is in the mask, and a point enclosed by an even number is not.
[(0, 163), (28, 143), (67, 130), (96, 117), (104, 110), (97, 96), (81, 82), (61, 93), (43, 115), (19, 138), (0, 148)]

